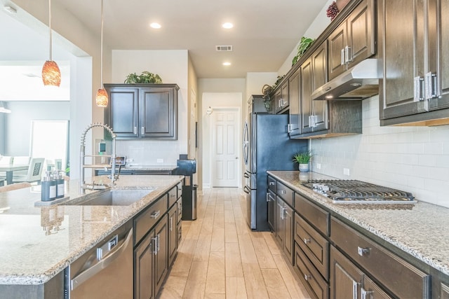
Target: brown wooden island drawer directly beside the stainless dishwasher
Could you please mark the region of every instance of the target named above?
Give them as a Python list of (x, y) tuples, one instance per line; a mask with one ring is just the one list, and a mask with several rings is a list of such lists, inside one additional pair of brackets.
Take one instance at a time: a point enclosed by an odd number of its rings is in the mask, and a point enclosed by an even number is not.
[(163, 195), (159, 200), (156, 200), (151, 206), (149, 206), (140, 216), (135, 218), (135, 242), (137, 244), (147, 232), (163, 218), (163, 215), (167, 211), (167, 198), (168, 195)]

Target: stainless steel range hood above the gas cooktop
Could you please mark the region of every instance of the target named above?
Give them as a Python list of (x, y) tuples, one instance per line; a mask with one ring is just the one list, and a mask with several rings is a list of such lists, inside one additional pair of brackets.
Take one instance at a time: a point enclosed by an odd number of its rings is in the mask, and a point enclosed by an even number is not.
[(311, 94), (314, 100), (365, 99), (379, 93), (377, 59), (367, 59), (348, 69)]

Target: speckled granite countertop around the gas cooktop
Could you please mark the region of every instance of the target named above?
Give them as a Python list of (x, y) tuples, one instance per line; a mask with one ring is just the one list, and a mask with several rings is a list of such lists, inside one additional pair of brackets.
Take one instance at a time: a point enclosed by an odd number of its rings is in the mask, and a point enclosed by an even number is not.
[(269, 171), (268, 174), (389, 244), (449, 275), (448, 208), (421, 202), (419, 198), (416, 204), (405, 205), (333, 204), (323, 195), (301, 185), (302, 181), (308, 179), (335, 179), (333, 177), (295, 171)]

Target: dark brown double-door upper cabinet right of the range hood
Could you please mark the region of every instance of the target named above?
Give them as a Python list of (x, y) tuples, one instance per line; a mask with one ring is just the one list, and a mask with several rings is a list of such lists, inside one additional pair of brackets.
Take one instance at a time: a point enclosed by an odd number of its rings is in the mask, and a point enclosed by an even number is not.
[(378, 1), (381, 125), (449, 123), (448, 1)]

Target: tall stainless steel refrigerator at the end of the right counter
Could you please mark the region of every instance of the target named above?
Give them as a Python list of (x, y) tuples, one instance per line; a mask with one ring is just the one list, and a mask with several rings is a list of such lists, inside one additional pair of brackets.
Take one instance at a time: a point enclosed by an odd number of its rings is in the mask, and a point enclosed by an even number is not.
[(288, 115), (268, 114), (260, 107), (260, 96), (248, 100), (249, 111), (243, 127), (243, 160), (246, 171), (246, 219), (252, 230), (269, 230), (267, 170), (297, 170), (293, 154), (307, 151), (307, 139), (290, 139)]

